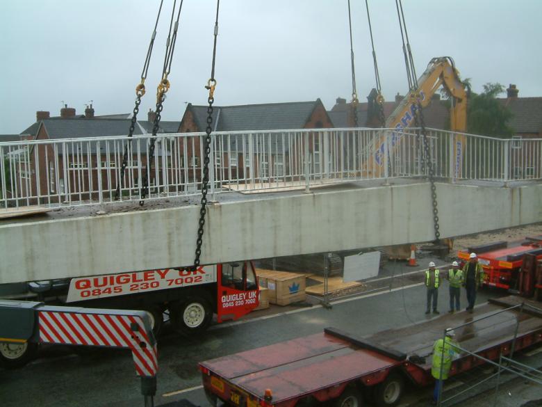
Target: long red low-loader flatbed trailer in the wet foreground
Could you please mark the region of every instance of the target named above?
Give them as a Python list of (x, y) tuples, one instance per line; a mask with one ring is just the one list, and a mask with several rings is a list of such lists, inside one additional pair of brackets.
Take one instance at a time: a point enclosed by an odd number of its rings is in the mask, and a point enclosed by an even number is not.
[[(456, 330), (454, 339), (463, 349), (491, 360), (498, 359), (501, 351), (509, 354), (514, 337), (516, 351), (542, 342), (541, 312), (507, 310), (522, 301), (509, 296), (478, 306), (474, 317), (457, 312), (368, 337), (327, 328), (323, 333), (208, 360), (199, 364), (204, 390), (215, 407), (220, 401), (235, 407), (293, 407), (328, 400), (340, 407), (360, 406), (366, 397), (377, 405), (394, 406), (405, 383), (434, 382), (433, 344), (446, 328), (467, 324)], [(483, 363), (462, 355), (452, 363), (450, 376)], [(357, 400), (352, 404), (353, 398)]]

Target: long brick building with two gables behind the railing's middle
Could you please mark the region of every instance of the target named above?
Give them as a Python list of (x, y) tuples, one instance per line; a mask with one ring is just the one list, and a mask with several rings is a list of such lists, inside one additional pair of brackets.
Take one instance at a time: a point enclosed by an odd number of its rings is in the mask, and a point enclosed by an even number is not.
[[(205, 131), (207, 125), (207, 106), (188, 104), (183, 114), (179, 133)], [(257, 179), (258, 182), (272, 182), (292, 174), (293, 167), (302, 163), (293, 161), (295, 147), (303, 141), (291, 141), (284, 133), (273, 130), (287, 129), (325, 129), (334, 127), (322, 101), (288, 102), (271, 104), (248, 104), (240, 106), (214, 106), (213, 132), (228, 131), (230, 136), (215, 136), (215, 174), (217, 179)], [(254, 134), (251, 134), (254, 131)], [(265, 131), (270, 131), (268, 134)], [(256, 133), (257, 132), (257, 133)], [(186, 157), (192, 157), (191, 166), (197, 166), (201, 157), (201, 147), (188, 137), (185, 144)], [(309, 152), (313, 165), (320, 162), (322, 136), (310, 134)], [(249, 148), (250, 144), (250, 148)], [(183, 148), (183, 146), (181, 146)], [(252, 157), (247, 153), (252, 151)], [(181, 152), (183, 155), (184, 152)], [(220, 156), (220, 157), (219, 157)], [(249, 169), (253, 173), (249, 173)], [(198, 182), (201, 177), (193, 172), (189, 182)], [(290, 180), (294, 180), (290, 178)]]

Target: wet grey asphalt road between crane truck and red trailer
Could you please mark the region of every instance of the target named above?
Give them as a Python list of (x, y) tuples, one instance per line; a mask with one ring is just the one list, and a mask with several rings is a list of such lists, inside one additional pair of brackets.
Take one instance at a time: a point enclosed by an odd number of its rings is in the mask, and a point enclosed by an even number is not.
[[(404, 281), (407, 281), (405, 278)], [(419, 280), (418, 280), (419, 281)], [(281, 314), (211, 327), (199, 338), (186, 339), (166, 333), (158, 346), (158, 390), (155, 405), (188, 399), (208, 407), (200, 388), (197, 362), (254, 349), (259, 346), (318, 333), (327, 326), (356, 335), (397, 328), (425, 316), (425, 287), (404, 282), (384, 292), (361, 294), (333, 303), (297, 308)], [(411, 285), (406, 285), (411, 284)], [(466, 305), (465, 293), (461, 293)], [(481, 292), (477, 303), (500, 292)], [(447, 287), (441, 287), (439, 308), (447, 310)], [(440, 332), (436, 332), (436, 337)], [(23, 369), (0, 370), (0, 406), (143, 406), (139, 379), (127, 351), (102, 350), (78, 356), (66, 347), (44, 349), (41, 358)]]

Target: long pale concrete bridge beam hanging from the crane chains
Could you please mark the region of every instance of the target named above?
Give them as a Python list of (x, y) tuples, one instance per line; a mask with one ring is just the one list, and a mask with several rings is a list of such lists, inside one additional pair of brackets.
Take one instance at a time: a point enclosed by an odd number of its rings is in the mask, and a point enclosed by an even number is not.
[[(429, 184), (211, 205), (202, 264), (434, 239)], [(441, 237), (542, 221), (542, 184), (437, 184)], [(0, 226), (0, 283), (188, 266), (199, 208)]]

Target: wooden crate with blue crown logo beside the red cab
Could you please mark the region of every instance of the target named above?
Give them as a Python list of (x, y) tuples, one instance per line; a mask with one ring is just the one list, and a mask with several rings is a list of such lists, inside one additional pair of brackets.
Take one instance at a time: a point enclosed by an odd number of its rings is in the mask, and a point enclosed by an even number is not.
[(258, 281), (268, 288), (269, 302), (288, 305), (306, 299), (306, 276), (287, 271), (256, 269)]

